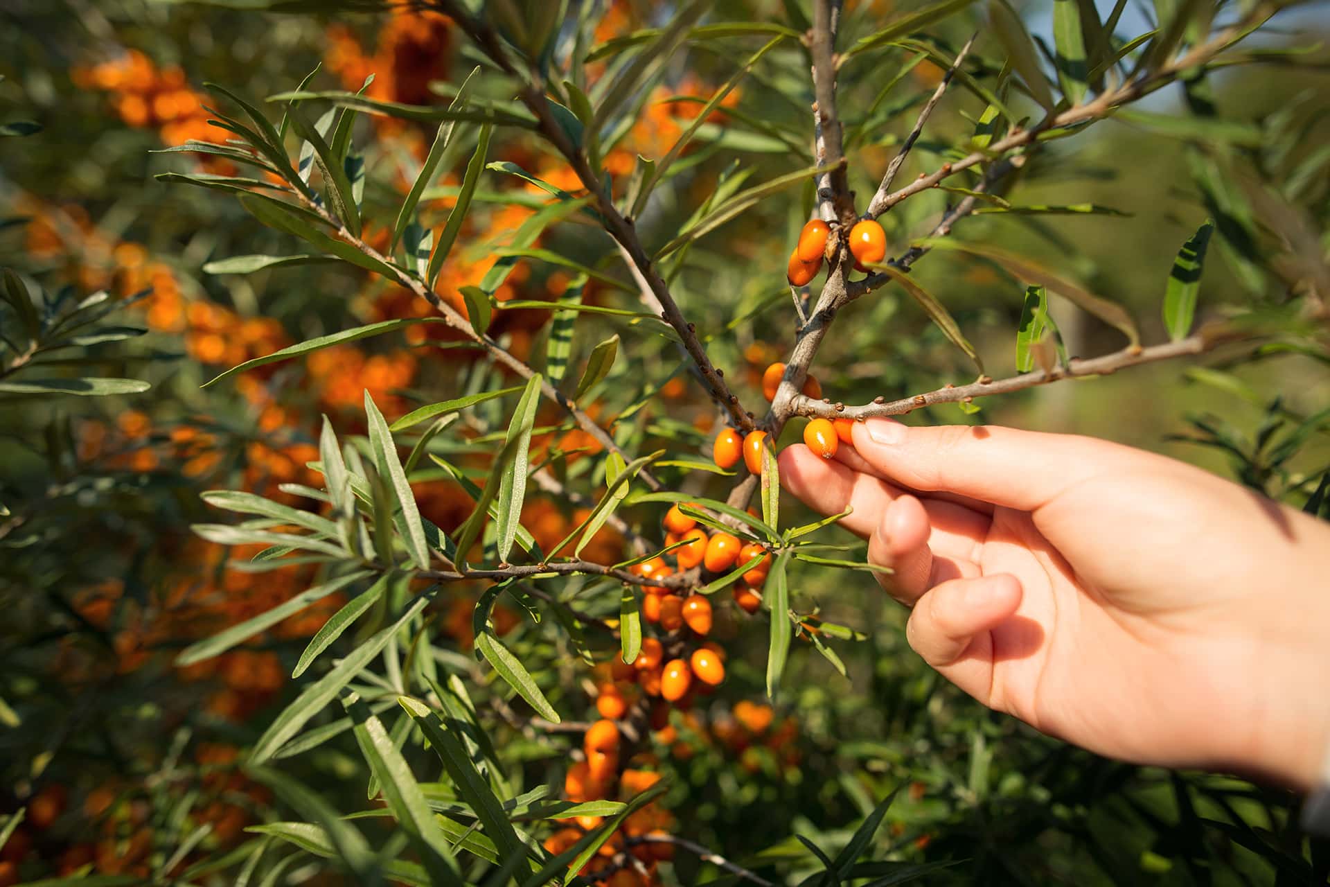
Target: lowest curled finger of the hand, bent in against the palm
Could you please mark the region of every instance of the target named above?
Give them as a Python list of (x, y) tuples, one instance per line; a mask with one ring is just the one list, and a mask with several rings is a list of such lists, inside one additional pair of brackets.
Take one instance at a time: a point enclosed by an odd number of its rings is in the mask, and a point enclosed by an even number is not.
[(915, 604), (906, 640), (924, 662), (987, 703), (994, 669), (988, 633), (1016, 613), (1021, 596), (1020, 581), (1005, 573), (948, 580)]

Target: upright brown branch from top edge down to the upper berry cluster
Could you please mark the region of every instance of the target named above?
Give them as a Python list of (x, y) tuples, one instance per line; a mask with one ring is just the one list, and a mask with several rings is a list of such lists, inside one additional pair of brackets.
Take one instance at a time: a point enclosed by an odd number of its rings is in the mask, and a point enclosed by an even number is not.
[(846, 174), (841, 118), (835, 108), (835, 32), (841, 19), (839, 0), (815, 0), (813, 4), (813, 105), (814, 140), (818, 166), (829, 168), (818, 176), (818, 214), (826, 221), (854, 223), (854, 197)]

